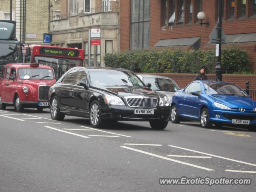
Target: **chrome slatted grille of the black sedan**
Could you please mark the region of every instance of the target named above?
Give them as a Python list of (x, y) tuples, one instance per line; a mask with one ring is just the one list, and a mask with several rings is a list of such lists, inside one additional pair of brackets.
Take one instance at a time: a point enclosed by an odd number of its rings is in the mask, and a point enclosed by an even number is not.
[(128, 106), (140, 108), (152, 108), (157, 106), (157, 98), (151, 97), (125, 97)]

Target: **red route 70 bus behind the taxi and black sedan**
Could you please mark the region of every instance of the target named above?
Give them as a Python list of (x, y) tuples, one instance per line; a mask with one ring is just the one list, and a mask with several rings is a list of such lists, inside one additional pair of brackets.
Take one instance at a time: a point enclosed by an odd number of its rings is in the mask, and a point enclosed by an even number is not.
[(52, 66), (56, 79), (72, 67), (83, 66), (84, 50), (54, 46), (32, 46), (32, 62)]

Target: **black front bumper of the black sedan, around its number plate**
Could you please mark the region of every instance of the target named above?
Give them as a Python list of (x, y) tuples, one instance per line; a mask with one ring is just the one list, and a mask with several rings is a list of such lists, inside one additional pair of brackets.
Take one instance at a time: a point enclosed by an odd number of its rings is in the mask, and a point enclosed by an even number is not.
[(106, 106), (101, 108), (102, 118), (106, 120), (122, 120), (122, 121), (168, 121), (170, 118), (170, 106), (158, 108), (140, 108), (154, 109), (154, 114), (134, 114), (134, 110), (139, 108), (131, 108), (128, 106)]

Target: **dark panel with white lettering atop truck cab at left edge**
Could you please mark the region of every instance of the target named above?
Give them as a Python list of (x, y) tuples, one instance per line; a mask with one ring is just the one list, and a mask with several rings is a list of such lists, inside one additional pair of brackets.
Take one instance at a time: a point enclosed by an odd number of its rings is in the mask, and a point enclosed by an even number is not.
[(15, 40), (16, 21), (0, 20), (0, 40)]

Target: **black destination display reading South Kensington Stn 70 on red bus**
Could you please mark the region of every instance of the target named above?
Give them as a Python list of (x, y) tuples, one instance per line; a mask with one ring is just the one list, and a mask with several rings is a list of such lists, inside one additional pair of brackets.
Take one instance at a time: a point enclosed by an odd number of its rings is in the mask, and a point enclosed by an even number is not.
[(62, 49), (62, 48), (58, 49), (58, 48), (41, 47), (40, 54), (64, 56), (64, 57), (78, 57), (79, 51), (78, 50), (66, 50), (66, 49)]

